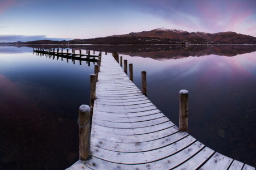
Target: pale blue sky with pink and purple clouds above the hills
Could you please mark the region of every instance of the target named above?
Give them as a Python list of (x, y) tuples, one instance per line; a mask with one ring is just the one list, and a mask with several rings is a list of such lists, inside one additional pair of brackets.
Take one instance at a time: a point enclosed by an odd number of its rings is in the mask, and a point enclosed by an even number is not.
[(256, 0), (0, 0), (0, 42), (89, 39), (162, 27), (256, 37)]

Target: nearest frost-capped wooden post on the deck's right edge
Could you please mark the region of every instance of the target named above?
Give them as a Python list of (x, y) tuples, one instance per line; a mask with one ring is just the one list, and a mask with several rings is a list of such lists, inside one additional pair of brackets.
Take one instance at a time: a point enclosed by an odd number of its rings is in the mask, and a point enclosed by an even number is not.
[(180, 91), (180, 131), (188, 131), (188, 91)]

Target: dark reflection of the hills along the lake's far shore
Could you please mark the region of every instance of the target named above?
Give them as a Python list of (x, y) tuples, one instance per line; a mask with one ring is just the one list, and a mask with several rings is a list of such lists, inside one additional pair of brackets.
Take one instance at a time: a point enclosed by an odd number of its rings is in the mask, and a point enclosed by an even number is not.
[[(88, 49), (98, 52), (117, 52), (129, 56), (150, 57), (154, 59), (175, 59), (189, 56), (233, 57), (238, 54), (256, 51), (256, 45), (26, 45), (34, 48), (72, 48), (75, 50)], [(20, 45), (19, 45), (20, 47)]]

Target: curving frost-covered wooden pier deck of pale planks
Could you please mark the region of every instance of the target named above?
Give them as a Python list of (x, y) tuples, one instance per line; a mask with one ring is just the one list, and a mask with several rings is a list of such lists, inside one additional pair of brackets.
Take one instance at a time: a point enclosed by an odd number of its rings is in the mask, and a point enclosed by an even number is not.
[(151, 103), (113, 57), (101, 59), (91, 156), (75, 169), (255, 169), (181, 132)]

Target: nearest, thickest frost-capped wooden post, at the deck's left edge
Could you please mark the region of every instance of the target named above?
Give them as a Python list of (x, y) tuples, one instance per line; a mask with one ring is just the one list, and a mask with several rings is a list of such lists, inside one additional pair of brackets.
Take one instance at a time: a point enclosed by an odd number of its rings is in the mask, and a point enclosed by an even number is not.
[(89, 105), (81, 105), (79, 107), (79, 159), (88, 159), (90, 156), (90, 107)]

